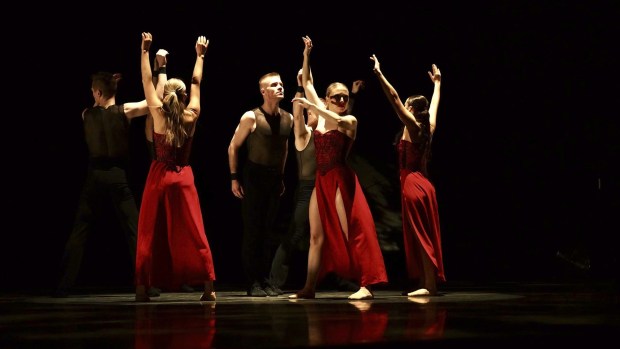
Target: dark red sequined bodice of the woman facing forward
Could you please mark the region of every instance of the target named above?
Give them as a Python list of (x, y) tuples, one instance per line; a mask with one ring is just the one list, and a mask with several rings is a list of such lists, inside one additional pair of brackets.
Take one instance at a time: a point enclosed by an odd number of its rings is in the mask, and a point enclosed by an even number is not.
[(340, 131), (314, 131), (317, 171), (324, 175), (334, 167), (346, 165), (351, 146), (353, 139)]

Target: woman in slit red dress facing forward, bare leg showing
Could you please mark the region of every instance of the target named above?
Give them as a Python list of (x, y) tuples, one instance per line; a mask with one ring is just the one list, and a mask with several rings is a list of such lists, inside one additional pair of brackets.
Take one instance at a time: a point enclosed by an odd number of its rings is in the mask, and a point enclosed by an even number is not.
[(303, 84), (308, 99), (294, 103), (319, 116), (314, 130), (317, 172), (310, 199), (310, 250), (304, 288), (291, 298), (314, 298), (316, 283), (327, 273), (354, 279), (360, 289), (349, 299), (372, 299), (372, 285), (387, 283), (375, 223), (357, 175), (346, 163), (357, 133), (357, 119), (347, 115), (349, 90), (327, 87), (325, 105), (310, 76), (312, 41), (304, 37)]

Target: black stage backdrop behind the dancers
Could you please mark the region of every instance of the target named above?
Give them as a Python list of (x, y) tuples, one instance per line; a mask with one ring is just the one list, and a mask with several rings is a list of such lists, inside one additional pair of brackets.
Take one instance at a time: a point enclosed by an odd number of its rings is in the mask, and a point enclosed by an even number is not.
[[(192, 167), (218, 282), (243, 280), (228, 143), (243, 112), (262, 101), (262, 74), (282, 74), (287, 98), (281, 107), (291, 110), (303, 35), (314, 43), (320, 92), (333, 81), (366, 82), (354, 110), (360, 123), (354, 157), (373, 193), (392, 280), (404, 273), (401, 231), (390, 221), (400, 210), (391, 145), (400, 124), (372, 73), (373, 53), (403, 98), (430, 97), (427, 70), (436, 63), (442, 71), (430, 170), (448, 281), (617, 276), (612, 29), (619, 17), (611, 1), (111, 5), (78, 7), (72, 14), (41, 5), (10, 14), (20, 25), (4, 30), (9, 50), (3, 55), (10, 62), (4, 74), (12, 79), (3, 89), (3, 115), (10, 121), (4, 129), (8, 214), (1, 289), (53, 287), (85, 175), (80, 115), (93, 103), (90, 75), (120, 72), (117, 102), (141, 100), (142, 31), (154, 35), (152, 55), (159, 48), (170, 52), (168, 75), (186, 82), (196, 37), (210, 39)], [(143, 120), (132, 126), (138, 202), (149, 165), (143, 126)], [(291, 160), (283, 229), (295, 185)], [(131, 272), (123, 236), (110, 219), (89, 241), (79, 283), (131, 285)]]

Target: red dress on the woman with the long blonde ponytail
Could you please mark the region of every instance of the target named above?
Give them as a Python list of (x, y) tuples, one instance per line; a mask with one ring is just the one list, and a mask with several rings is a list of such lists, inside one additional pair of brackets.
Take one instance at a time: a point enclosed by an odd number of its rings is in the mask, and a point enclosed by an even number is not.
[(146, 178), (136, 253), (136, 285), (178, 290), (215, 280), (194, 173), (189, 138), (180, 148), (154, 133), (156, 158)]

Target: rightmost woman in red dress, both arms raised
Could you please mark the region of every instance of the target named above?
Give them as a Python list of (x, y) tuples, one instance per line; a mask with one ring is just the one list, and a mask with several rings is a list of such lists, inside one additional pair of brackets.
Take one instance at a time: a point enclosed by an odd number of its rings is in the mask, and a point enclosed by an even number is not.
[(428, 72), (435, 84), (430, 105), (422, 95), (411, 96), (403, 104), (396, 89), (381, 72), (379, 59), (375, 55), (370, 59), (375, 62), (374, 72), (383, 92), (404, 124), (398, 142), (403, 236), (409, 278), (419, 281), (418, 289), (407, 295), (436, 295), (437, 281), (445, 282), (446, 276), (441, 253), (437, 196), (428, 178), (427, 162), (437, 125), (441, 72), (435, 64), (432, 72)]

